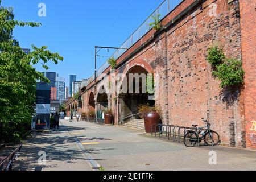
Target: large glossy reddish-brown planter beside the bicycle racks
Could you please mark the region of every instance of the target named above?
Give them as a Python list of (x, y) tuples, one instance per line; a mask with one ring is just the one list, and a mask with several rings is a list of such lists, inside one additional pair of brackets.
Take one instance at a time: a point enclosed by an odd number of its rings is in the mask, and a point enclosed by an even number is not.
[[(160, 123), (160, 115), (156, 111), (150, 111), (149, 113), (144, 115), (144, 125), (145, 125), (145, 132), (151, 133), (151, 126), (152, 132), (155, 132), (155, 126)], [(159, 130), (156, 128), (156, 130)]]

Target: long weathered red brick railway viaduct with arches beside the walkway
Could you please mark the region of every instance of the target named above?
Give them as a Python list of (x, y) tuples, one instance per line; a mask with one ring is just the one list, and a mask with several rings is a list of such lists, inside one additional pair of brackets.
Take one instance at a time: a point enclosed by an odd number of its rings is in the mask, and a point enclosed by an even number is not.
[[(217, 5), (217, 16), (209, 13), (212, 3)], [(155, 105), (162, 109), (163, 123), (200, 126), (204, 125), (202, 119), (208, 119), (222, 144), (255, 150), (255, 5), (255, 0), (184, 0), (162, 19), (160, 30), (148, 31), (117, 59), (114, 73), (158, 73)], [(220, 81), (213, 77), (207, 49), (214, 43), (224, 48), (226, 56), (242, 60), (242, 90), (222, 90)], [(110, 67), (104, 73), (110, 77)], [(119, 81), (117, 77), (115, 81)], [(102, 79), (97, 77), (95, 82), (80, 90), (80, 100), (66, 102), (68, 114), (71, 109), (88, 113), (104, 102), (118, 125), (126, 110), (133, 113), (142, 99), (100, 94)]]

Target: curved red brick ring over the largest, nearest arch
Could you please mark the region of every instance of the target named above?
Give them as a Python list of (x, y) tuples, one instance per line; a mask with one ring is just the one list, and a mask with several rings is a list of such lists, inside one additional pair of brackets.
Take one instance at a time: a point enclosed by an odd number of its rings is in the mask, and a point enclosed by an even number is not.
[[(125, 77), (125, 75), (129, 72), (129, 70), (135, 66), (139, 66), (139, 67), (142, 67), (144, 69), (146, 69), (146, 71), (148, 73), (152, 73), (154, 75), (155, 71), (154, 69), (151, 67), (150, 64), (147, 63), (147, 61), (141, 59), (141, 58), (137, 58), (137, 59), (134, 59), (134, 60), (131, 60), (129, 63), (128, 63), (128, 67), (126, 67), (124, 70), (123, 70), (123, 77), (121, 78), (121, 83), (123, 82), (123, 78)], [(118, 93), (120, 91), (120, 88), (118, 88)]]

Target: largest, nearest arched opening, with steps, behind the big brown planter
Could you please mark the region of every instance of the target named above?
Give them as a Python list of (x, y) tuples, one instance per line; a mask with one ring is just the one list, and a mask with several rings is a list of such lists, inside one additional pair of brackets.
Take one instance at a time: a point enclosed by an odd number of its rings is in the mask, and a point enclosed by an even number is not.
[[(131, 75), (129, 75), (130, 73)], [(126, 77), (122, 80), (118, 95), (119, 122), (139, 119), (138, 106), (140, 104), (149, 104), (151, 107), (155, 106), (155, 100), (151, 100), (148, 97), (150, 94), (146, 89), (147, 76), (148, 71), (139, 65), (135, 65), (127, 71)]]

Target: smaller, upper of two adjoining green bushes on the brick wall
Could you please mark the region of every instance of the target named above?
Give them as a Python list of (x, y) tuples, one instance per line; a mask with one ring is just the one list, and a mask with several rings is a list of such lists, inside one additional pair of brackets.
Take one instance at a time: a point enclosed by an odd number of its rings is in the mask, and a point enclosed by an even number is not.
[(219, 48), (218, 45), (209, 47), (207, 60), (213, 66), (223, 63), (225, 60), (225, 55), (222, 48)]

